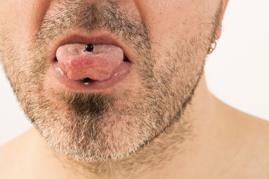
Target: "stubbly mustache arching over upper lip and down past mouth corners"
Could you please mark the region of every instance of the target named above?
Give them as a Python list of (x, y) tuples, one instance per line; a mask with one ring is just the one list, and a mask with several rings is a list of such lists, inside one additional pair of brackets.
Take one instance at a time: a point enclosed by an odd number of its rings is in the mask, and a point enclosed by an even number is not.
[(34, 52), (35, 59), (31, 68), (33, 73), (38, 74), (35, 78), (43, 79), (49, 69), (46, 59), (51, 44), (72, 29), (79, 29), (89, 34), (106, 31), (122, 40), (133, 50), (133, 58), (139, 59), (136, 60), (137, 73), (144, 85), (148, 86), (153, 81), (156, 63), (151, 47), (152, 40), (143, 19), (127, 13), (128, 9), (111, 0), (55, 1), (53, 7), (43, 16), (38, 31), (31, 40), (29, 51)]

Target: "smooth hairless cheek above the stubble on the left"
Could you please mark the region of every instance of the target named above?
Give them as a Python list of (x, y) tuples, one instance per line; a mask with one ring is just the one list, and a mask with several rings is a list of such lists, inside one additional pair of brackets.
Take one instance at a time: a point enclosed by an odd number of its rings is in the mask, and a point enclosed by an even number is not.
[(38, 31), (50, 2), (49, 0), (1, 1), (1, 31), (8, 35), (10, 41), (16, 41), (20, 47), (27, 48), (30, 40)]

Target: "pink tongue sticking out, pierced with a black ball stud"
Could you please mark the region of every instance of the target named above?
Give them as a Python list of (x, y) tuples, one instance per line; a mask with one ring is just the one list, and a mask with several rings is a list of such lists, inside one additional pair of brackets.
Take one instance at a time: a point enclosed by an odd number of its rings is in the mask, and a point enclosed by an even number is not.
[(70, 43), (59, 47), (56, 57), (60, 68), (72, 80), (106, 80), (123, 62), (123, 51), (113, 45), (95, 44), (93, 51), (88, 52), (85, 44)]

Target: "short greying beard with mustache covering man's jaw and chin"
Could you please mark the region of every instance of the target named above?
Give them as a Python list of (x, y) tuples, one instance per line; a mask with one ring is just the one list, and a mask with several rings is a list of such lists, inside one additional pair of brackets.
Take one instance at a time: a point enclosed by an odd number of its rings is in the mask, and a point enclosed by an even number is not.
[[(220, 9), (201, 22), (207, 28), (193, 36), (177, 34), (172, 48), (159, 47), (164, 54), (153, 50), (157, 44), (142, 19), (128, 17), (116, 4), (65, 1), (54, 10), (61, 13), (44, 16), (28, 46), (29, 59), (14, 51), (16, 44), (8, 40), (3, 40), (6, 44), (1, 48), (6, 49), (1, 53), (3, 66), (19, 102), (53, 149), (77, 161), (121, 159), (149, 145), (180, 120), (203, 74)], [(108, 31), (133, 49), (136, 73), (122, 92), (71, 93), (51, 87), (50, 46), (59, 34), (74, 27), (88, 33)], [(13, 64), (5, 59), (13, 59)], [(159, 60), (161, 67), (156, 65)]]

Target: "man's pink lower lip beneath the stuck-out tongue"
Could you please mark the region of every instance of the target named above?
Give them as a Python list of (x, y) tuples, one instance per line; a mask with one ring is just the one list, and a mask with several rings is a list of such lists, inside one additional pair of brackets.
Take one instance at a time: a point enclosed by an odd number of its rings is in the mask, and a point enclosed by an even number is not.
[(91, 80), (89, 84), (84, 84), (82, 80), (70, 80), (63, 70), (58, 65), (58, 61), (53, 62), (51, 69), (51, 78), (53, 81), (50, 83), (56, 90), (72, 91), (72, 92), (89, 92), (89, 91), (104, 91), (109, 88), (116, 87), (127, 79), (127, 76), (132, 70), (133, 64), (130, 61), (122, 61), (122, 63), (114, 70), (110, 78), (98, 81)]

